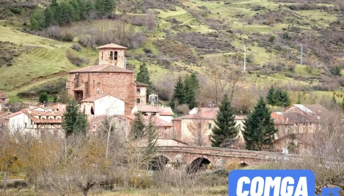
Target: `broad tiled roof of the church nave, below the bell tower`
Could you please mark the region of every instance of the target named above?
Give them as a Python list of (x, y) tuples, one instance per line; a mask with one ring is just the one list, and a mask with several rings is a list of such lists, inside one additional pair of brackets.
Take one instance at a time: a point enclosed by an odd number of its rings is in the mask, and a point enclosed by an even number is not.
[(113, 65), (94, 65), (77, 70), (70, 71), (68, 73), (134, 73), (133, 71), (126, 70)]

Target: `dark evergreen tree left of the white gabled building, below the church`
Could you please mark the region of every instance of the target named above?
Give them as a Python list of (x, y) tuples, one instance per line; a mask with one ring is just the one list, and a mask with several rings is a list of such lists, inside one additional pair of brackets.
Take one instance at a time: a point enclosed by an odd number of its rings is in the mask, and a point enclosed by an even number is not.
[(76, 134), (86, 134), (88, 129), (87, 117), (85, 111), (80, 112), (76, 100), (71, 100), (66, 106), (66, 112), (63, 114), (62, 127), (66, 132), (66, 137)]

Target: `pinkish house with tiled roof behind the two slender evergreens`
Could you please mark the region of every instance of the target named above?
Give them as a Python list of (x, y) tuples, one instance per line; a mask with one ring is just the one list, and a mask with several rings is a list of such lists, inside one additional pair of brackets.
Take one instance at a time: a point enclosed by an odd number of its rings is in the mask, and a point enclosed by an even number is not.
[[(168, 122), (158, 118), (157, 116), (143, 116), (143, 122), (144, 122), (145, 126), (148, 125), (150, 117), (152, 118), (152, 121), (154, 122), (155, 128), (156, 128), (156, 130), (159, 133), (159, 136), (161, 138), (171, 138), (174, 135), (174, 130), (173, 130), (174, 125), (172, 123), (168, 123)], [(129, 136), (130, 127), (135, 120), (135, 115), (125, 115), (125, 118), (126, 118), (126, 122), (127, 122), (126, 127), (128, 127), (126, 135)], [(127, 138), (127, 139), (129, 139), (129, 138)]]

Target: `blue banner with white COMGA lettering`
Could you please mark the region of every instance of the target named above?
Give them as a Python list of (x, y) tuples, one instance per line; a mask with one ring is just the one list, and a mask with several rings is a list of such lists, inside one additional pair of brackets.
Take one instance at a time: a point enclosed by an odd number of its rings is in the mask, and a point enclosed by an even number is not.
[(315, 196), (311, 170), (233, 170), (229, 196)]

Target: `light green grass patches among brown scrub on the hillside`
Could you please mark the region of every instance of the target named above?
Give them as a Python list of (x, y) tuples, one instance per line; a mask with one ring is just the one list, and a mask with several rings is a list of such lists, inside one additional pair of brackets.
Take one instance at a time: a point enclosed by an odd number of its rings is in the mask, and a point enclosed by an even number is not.
[[(193, 9), (200, 10), (199, 6), (205, 6), (211, 11), (207, 18), (217, 19), (224, 21), (229, 29), (240, 29), (244, 34), (235, 34), (235, 39), (232, 45), (237, 49), (241, 49), (242, 42), (241, 38), (247, 38), (247, 35), (252, 32), (259, 32), (265, 34), (272, 34), (276, 30), (281, 30), (288, 26), (288, 24), (276, 23), (274, 26), (269, 25), (247, 25), (240, 18), (236, 18), (235, 15), (240, 13), (245, 16), (253, 16), (256, 11), (252, 11), (253, 6), (264, 6), (264, 10), (257, 11), (260, 15), (269, 12), (267, 9), (276, 10), (278, 4), (274, 2), (268, 2), (267, 0), (234, 0), (232, 4), (225, 4), (225, 1), (201, 1), (201, 0), (183, 0), (184, 5), (189, 6)], [(288, 9), (288, 8), (282, 8)], [(189, 25), (191, 28), (183, 29), (185, 31), (207, 33), (214, 31), (210, 29), (207, 25), (200, 24), (191, 14), (189, 14), (185, 9), (181, 7), (176, 7), (176, 11), (159, 11), (158, 23), (160, 25), (160, 30), (155, 30), (154, 33), (149, 35), (149, 39), (146, 43), (139, 49), (131, 51), (134, 54), (142, 54), (143, 48), (152, 49), (154, 54), (158, 54), (160, 51), (152, 45), (152, 41), (156, 39), (164, 39), (165, 33), (162, 29), (172, 26), (171, 23), (167, 22), (167, 19), (175, 18), (182, 22), (182, 25)], [(326, 12), (321, 12), (319, 10), (306, 10), (306, 11), (295, 11), (296, 14), (305, 16), (299, 21), (308, 22), (316, 24), (318, 26), (326, 26), (331, 22), (336, 20), (336, 16), (329, 15)], [(129, 13), (130, 14), (130, 13)], [(307, 17), (307, 18), (306, 18)], [(311, 19), (315, 19), (316, 22), (311, 22)], [(6, 27), (3, 25), (7, 25)], [(293, 24), (303, 29), (308, 29), (307, 26)], [(22, 33), (16, 28), (21, 28), (22, 23), (10, 24), (6, 21), (0, 21), (0, 41), (11, 41), (18, 45), (18, 49), (25, 50), (22, 54), (15, 59), (13, 66), (2, 66), (0, 68), (0, 90), (9, 93), (9, 95), (16, 95), (18, 92), (28, 90), (34, 86), (39, 86), (41, 84), (56, 80), (61, 77), (66, 77), (67, 71), (77, 69), (77, 66), (72, 65), (66, 58), (66, 52), (74, 52), (78, 56), (89, 58), (91, 61), (89, 65), (93, 65), (95, 59), (97, 59), (97, 51), (93, 49), (83, 48), (81, 52), (76, 52), (70, 49), (72, 43), (59, 42), (35, 35), (30, 35)], [(176, 30), (172, 30), (172, 34), (177, 33)], [(28, 47), (32, 47), (29, 48)], [(257, 44), (255, 46), (248, 46), (248, 52), (253, 52), (255, 55), (254, 63), (262, 65), (264, 63), (270, 62), (275, 58), (275, 52), (266, 52), (265, 49), (259, 48)], [(222, 55), (218, 54), (208, 54), (203, 55), (205, 58), (212, 55)], [(286, 59), (286, 62), (288, 60)], [(129, 59), (129, 63), (135, 65), (135, 70), (138, 70), (140, 61), (136, 59)], [(177, 62), (177, 65), (183, 67), (185, 66), (183, 62)], [(191, 67), (188, 70), (194, 70), (198, 72), (204, 72), (202, 68)], [(159, 74), (168, 73), (168, 70), (164, 69), (155, 64), (149, 64), (148, 70), (151, 73), (153, 80), (157, 78)], [(306, 69), (306, 66), (296, 65), (295, 68), (296, 75), (303, 76), (319, 76), (321, 75), (320, 70), (313, 68), (311, 71)], [(258, 77), (252, 75), (255, 82), (259, 84), (264, 84), (266, 82), (289, 82), (295, 81), (292, 78), (288, 78), (283, 74), (275, 73), (269, 74), (268, 76)], [(308, 82), (301, 81), (301, 84), (306, 85)]]

